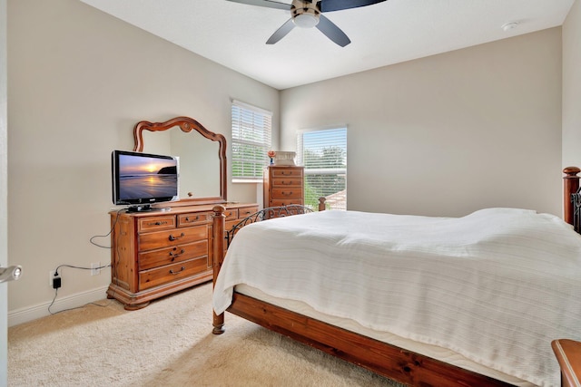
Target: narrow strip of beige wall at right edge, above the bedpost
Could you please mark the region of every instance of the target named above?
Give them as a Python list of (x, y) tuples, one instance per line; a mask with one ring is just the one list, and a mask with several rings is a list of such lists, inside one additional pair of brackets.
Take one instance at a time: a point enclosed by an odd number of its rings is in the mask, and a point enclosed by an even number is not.
[(563, 167), (581, 167), (581, 2), (563, 24)]

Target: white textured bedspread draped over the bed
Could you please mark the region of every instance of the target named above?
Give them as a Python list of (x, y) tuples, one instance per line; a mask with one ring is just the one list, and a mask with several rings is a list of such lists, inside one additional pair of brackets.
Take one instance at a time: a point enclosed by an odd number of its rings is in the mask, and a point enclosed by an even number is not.
[(302, 301), (558, 386), (552, 340), (581, 340), (581, 236), (560, 218), (488, 208), (463, 218), (322, 211), (243, 227), (214, 290)]

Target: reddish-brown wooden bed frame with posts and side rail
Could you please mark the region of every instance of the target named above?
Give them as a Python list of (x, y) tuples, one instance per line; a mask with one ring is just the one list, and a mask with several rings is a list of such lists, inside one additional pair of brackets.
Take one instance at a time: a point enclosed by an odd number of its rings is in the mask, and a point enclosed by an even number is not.
[[(572, 195), (579, 189), (581, 169), (563, 169), (564, 179), (564, 219), (569, 224), (578, 208), (574, 208)], [(324, 209), (320, 208), (320, 209)], [(214, 283), (222, 266), (224, 251), (224, 208), (213, 208), (213, 275)], [(232, 304), (227, 309), (253, 323), (271, 331), (284, 334), (301, 343), (318, 348), (325, 353), (340, 357), (350, 363), (367, 368), (393, 381), (411, 386), (509, 386), (477, 372), (470, 372), (455, 365), (434, 360), (420, 353), (414, 353), (397, 346), (382, 343), (361, 334), (355, 334), (337, 326), (320, 322), (303, 314), (298, 314), (276, 305), (265, 303), (248, 295), (234, 292)], [(213, 314), (213, 334), (224, 332), (224, 314)], [(556, 337), (557, 339), (558, 337)]]

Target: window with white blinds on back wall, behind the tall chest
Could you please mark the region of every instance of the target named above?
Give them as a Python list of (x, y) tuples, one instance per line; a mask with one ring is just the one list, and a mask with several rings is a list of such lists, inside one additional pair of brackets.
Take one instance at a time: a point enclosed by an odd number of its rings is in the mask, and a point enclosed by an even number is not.
[(305, 205), (317, 208), (321, 196), (327, 209), (347, 209), (347, 128), (300, 131), (297, 161), (305, 167)]

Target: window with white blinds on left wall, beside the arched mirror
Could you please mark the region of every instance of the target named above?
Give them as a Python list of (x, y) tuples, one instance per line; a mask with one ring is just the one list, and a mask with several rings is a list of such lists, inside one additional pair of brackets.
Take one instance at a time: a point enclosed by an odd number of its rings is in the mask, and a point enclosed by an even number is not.
[(271, 111), (232, 102), (232, 180), (262, 181), (271, 149)]

